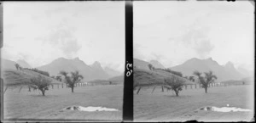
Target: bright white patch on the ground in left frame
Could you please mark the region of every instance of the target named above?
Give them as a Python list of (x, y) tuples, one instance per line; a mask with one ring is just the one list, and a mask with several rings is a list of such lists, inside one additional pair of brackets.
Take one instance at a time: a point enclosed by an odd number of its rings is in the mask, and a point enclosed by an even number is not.
[(109, 109), (106, 107), (82, 107), (82, 106), (71, 106), (71, 107), (67, 107), (65, 109), (70, 109), (70, 110), (79, 110), (79, 111), (118, 111), (118, 109)]

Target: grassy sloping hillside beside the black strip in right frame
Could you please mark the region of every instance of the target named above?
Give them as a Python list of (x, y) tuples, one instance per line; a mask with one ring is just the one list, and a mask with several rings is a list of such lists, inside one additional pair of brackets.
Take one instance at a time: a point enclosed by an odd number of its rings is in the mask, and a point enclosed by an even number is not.
[[(173, 74), (168, 73), (164, 70), (142, 70), (142, 69), (134, 69), (134, 84), (138, 84), (141, 86), (153, 86), (153, 85), (163, 85), (164, 79), (166, 77), (171, 77)], [(177, 75), (175, 75), (177, 76)], [(195, 84), (192, 81), (184, 79), (182, 77), (177, 76), (178, 78), (185, 80), (185, 84)]]

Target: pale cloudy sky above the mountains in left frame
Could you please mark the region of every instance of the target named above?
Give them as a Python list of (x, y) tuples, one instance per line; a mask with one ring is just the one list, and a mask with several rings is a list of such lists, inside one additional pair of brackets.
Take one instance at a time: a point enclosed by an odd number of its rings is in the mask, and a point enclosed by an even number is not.
[(3, 2), (3, 59), (125, 67), (125, 2)]

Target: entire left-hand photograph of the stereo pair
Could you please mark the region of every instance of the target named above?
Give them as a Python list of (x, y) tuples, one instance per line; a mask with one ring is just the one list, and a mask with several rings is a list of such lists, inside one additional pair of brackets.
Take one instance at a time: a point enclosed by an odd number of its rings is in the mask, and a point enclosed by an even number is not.
[(3, 120), (122, 120), (125, 2), (2, 5)]

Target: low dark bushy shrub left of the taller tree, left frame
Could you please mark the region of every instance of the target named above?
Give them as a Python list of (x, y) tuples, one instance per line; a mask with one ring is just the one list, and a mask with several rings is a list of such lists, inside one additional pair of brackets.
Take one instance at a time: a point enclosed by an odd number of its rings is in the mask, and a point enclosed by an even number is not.
[(29, 87), (32, 87), (33, 89), (38, 89), (42, 92), (43, 96), (46, 90), (49, 90), (49, 85), (51, 81), (49, 79), (46, 79), (42, 75), (38, 75), (38, 77), (34, 77), (31, 80), (31, 85)]

